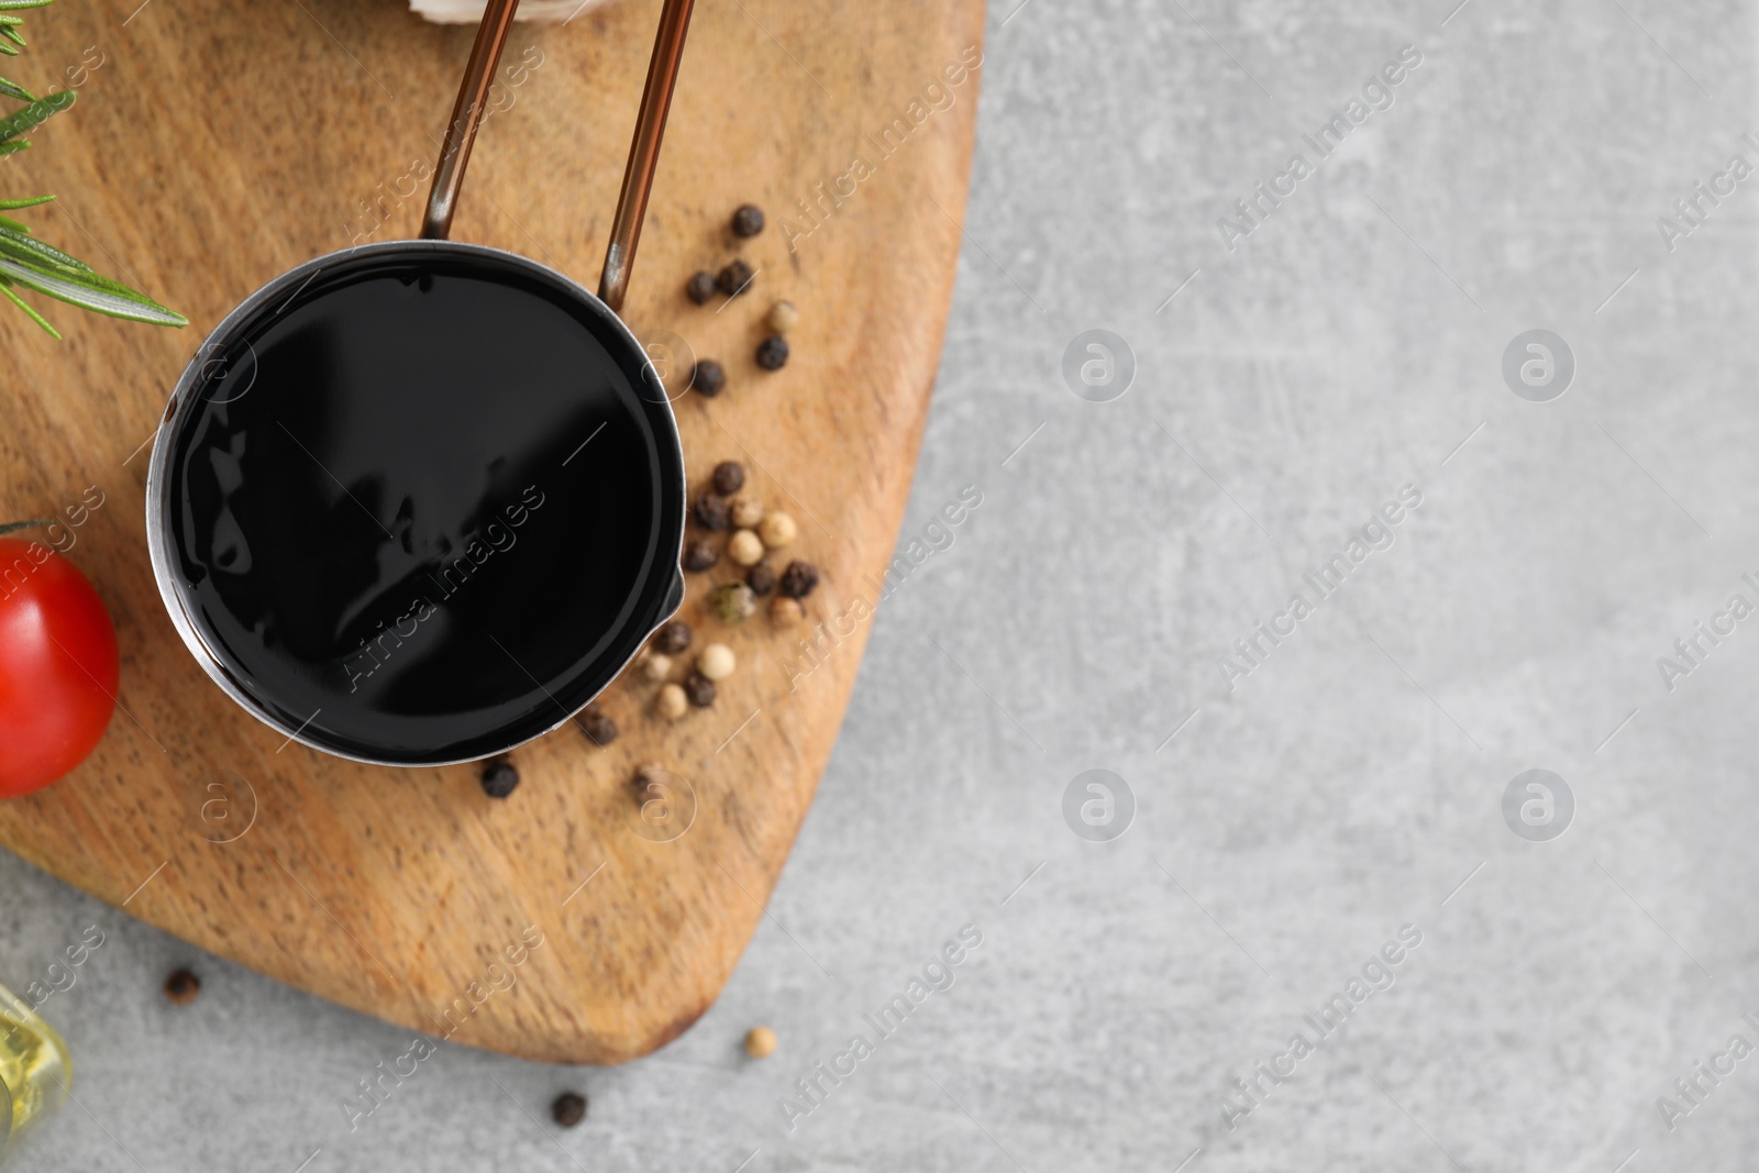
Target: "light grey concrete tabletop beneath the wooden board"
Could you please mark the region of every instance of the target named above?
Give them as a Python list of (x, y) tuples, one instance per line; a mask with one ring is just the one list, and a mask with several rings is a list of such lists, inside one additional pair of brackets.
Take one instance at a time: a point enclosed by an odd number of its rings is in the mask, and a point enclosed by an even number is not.
[(1750, 5), (1011, 4), (941, 549), (719, 1004), (352, 1117), (406, 1032), (0, 858), (0, 981), (106, 934), (21, 1168), (1750, 1168)]

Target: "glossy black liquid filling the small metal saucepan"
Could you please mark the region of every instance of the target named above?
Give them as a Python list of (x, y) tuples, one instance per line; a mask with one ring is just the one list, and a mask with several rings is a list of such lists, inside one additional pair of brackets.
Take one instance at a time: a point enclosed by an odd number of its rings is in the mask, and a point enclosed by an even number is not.
[(202, 638), (355, 756), (471, 758), (556, 725), (677, 573), (675, 438), (639, 362), (480, 253), (332, 262), (273, 299), (208, 355), (171, 454)]

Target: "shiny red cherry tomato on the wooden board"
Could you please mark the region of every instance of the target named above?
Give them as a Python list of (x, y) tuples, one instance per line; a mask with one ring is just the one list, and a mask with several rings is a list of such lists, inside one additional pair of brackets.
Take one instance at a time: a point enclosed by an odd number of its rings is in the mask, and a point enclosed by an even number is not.
[(116, 707), (116, 630), (79, 568), (0, 538), (0, 798), (84, 761)]

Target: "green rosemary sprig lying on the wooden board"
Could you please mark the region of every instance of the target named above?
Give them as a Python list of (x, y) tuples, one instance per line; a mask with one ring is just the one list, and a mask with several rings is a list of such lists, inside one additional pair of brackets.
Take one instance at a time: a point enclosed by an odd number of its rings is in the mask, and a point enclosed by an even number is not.
[[(12, 12), (40, 9), (49, 4), (53, 0), (0, 0), (0, 55), (18, 56), (18, 51), (25, 47), (25, 37), (19, 32), (23, 18), (12, 16)], [(0, 157), (4, 157), (26, 149), (30, 139), (25, 135), (55, 114), (69, 109), (77, 95), (72, 90), (62, 90), (39, 98), (25, 86), (0, 77), (0, 97), (25, 102), (21, 109), (0, 116)], [(53, 195), (33, 195), (28, 199), (0, 200), (0, 211), (35, 208), (53, 199)], [(121, 281), (100, 276), (86, 262), (39, 241), (18, 220), (0, 216), (0, 294), (5, 294), (7, 301), (23, 310), (32, 322), (46, 329), (53, 338), (60, 338), (62, 334), (49, 325), (49, 320), (14, 292), (16, 285), (113, 318), (128, 318), (130, 322), (148, 322), (153, 325), (188, 325), (188, 318), (181, 313), (167, 310)]]

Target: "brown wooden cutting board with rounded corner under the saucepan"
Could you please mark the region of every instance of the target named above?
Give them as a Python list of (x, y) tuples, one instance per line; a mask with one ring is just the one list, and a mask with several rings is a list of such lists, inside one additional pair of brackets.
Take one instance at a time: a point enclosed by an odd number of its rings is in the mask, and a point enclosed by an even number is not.
[[(952, 297), (982, 77), (960, 67), (982, 58), (983, 4), (698, 0), (626, 317), (726, 366), (718, 399), (677, 403), (693, 487), (718, 461), (746, 464), (797, 517), (793, 552), (823, 572), (809, 623), (836, 633), (814, 659), (800, 637), (816, 626), (719, 628), (702, 605), (726, 575), (691, 575), (682, 617), (741, 659), (716, 705), (663, 725), (656, 686), (630, 672), (602, 698), (623, 737), (598, 747), (566, 726), (519, 749), (505, 800), (484, 795), (477, 767), (354, 765), (234, 707), (165, 617), (142, 506), (141, 448), (208, 329), (301, 260), (366, 232), (415, 234), (415, 176), (473, 30), (426, 25), (398, 0), (137, 5), (30, 12), (30, 49), (4, 70), (39, 91), (77, 79), (79, 102), (0, 160), (0, 195), (60, 193), (21, 213), (37, 234), (192, 325), (40, 299), (67, 334), (56, 343), (0, 310), (0, 515), (102, 492), (70, 557), (109, 605), (123, 659), (97, 754), (0, 804), (0, 844), (429, 1036), (552, 1062), (647, 1053), (732, 973), (843, 719)], [(617, 0), (514, 32), (454, 239), (596, 287), (658, 14), (660, 0)], [(735, 246), (726, 222), (746, 200), (770, 223)], [(758, 269), (748, 295), (682, 295), (690, 273), (735, 255)], [(769, 375), (753, 350), (777, 297), (802, 320), (790, 364)], [(642, 761), (675, 779), (670, 805), (644, 805)]]

